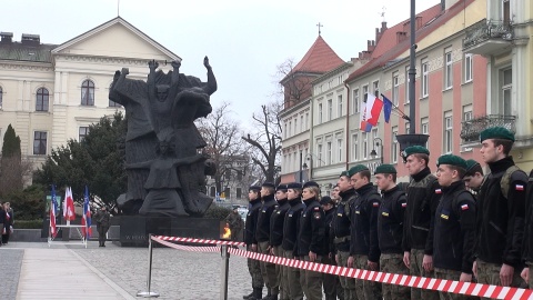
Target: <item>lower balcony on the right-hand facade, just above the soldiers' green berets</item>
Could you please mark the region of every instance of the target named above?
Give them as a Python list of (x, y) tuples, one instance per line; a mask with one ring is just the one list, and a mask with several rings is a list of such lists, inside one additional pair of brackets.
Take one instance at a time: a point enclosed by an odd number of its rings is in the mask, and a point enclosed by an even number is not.
[(504, 127), (516, 132), (516, 117), (503, 114), (487, 114), (476, 119), (462, 122), (461, 139), (464, 143), (480, 141), (480, 132), (490, 127)]

